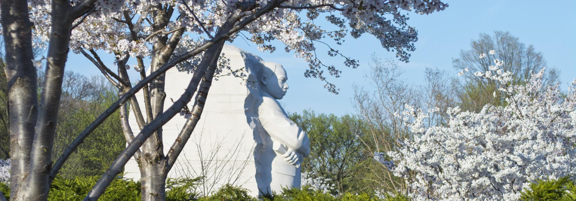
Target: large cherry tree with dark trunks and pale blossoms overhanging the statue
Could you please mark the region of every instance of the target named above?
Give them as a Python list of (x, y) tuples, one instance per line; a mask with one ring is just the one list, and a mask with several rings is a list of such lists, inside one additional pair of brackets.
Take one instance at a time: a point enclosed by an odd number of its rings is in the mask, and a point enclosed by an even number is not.
[[(338, 90), (327, 82), (324, 69), (338, 77), (334, 65), (316, 57), (316, 45), (332, 38), (342, 44), (348, 34), (359, 37), (373, 34), (388, 51), (395, 51), (401, 61), (408, 61), (414, 51), (417, 32), (407, 24), (408, 11), (429, 14), (444, 10), (439, 0), (5, 0), (0, 3), (2, 33), (6, 41), (6, 76), (9, 80), (10, 136), (12, 154), (11, 198), (45, 200), (51, 181), (71, 153), (100, 123), (120, 109), (127, 148), (94, 185), (85, 200), (97, 199), (111, 180), (134, 157), (141, 164), (142, 199), (163, 200), (165, 177), (184, 147), (202, 114), (203, 104), (218, 66), (225, 41), (233, 41), (240, 32), (265, 51), (275, 51), (272, 40), (281, 41), (286, 51), (308, 61), (305, 76), (319, 78), (332, 92)], [(324, 17), (336, 30), (324, 30), (314, 24)], [(41, 42), (33, 42), (40, 38)], [(32, 47), (46, 47), (40, 98), (36, 95), (36, 67)], [(114, 86), (119, 99), (94, 120), (52, 163), (62, 75), (67, 53), (86, 56)], [(97, 51), (115, 56), (117, 72), (105, 65)], [(344, 65), (357, 67), (357, 60), (329, 47), (328, 55), (344, 57)], [(146, 66), (144, 58), (150, 57)], [(129, 59), (139, 78), (129, 78)], [(175, 67), (192, 72), (184, 94), (168, 109), (164, 108), (164, 72)], [(143, 69), (149, 68), (149, 73)], [(132, 84), (138, 80), (137, 84)], [(133, 95), (143, 89), (145, 98)], [(198, 92), (196, 92), (198, 91)], [(162, 125), (184, 107), (196, 94), (188, 121), (168, 153), (162, 152)], [(137, 118), (141, 132), (134, 134), (127, 123), (127, 104)], [(139, 111), (139, 104), (145, 111)], [(188, 108), (188, 107), (186, 107)]]

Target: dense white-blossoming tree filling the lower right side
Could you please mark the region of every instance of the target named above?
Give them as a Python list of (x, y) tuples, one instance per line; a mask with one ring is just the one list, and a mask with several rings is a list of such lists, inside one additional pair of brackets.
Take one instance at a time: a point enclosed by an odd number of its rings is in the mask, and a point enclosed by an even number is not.
[[(492, 52), (489, 52), (492, 54)], [(525, 85), (510, 85), (502, 61), (476, 72), (502, 86), (505, 106), (486, 105), (479, 113), (448, 110), (446, 125), (425, 126), (437, 110), (414, 107), (399, 114), (414, 136), (377, 160), (403, 177), (416, 200), (517, 200), (536, 179), (574, 173), (576, 80), (564, 96), (543, 87), (544, 69)], [(391, 160), (391, 161), (389, 161)]]

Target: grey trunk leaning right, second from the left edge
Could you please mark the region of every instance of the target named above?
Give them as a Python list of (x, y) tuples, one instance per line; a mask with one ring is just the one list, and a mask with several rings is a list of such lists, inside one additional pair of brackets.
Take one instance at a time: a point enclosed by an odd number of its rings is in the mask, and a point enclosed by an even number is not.
[(50, 184), (48, 176), (52, 165), (52, 148), (56, 133), (56, 117), (60, 108), (62, 95), (62, 79), (70, 45), (70, 35), (73, 17), (69, 16), (71, 6), (69, 1), (52, 1), (50, 41), (46, 72), (38, 118), (36, 134), (32, 144), (29, 175), (25, 188), (18, 189), (17, 196), (22, 200), (46, 200)]

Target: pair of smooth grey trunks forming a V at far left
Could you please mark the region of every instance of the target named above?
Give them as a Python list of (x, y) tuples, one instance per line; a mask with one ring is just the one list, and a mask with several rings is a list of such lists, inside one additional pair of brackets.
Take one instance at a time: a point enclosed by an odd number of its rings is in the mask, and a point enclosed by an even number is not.
[(6, 74), (9, 88), (10, 135), (12, 144), (12, 200), (46, 200), (48, 175), (58, 117), (62, 78), (73, 21), (88, 15), (94, 0), (52, 1), (51, 29), (46, 61), (46, 79), (40, 94), (36, 91), (33, 66), (32, 23), (28, 2), (2, 1), (2, 28), (6, 41)]

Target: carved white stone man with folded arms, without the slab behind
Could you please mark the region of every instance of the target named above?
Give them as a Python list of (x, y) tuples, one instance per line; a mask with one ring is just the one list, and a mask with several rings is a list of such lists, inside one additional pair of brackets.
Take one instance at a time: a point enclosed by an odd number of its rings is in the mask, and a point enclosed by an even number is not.
[(276, 100), (288, 90), (286, 70), (251, 53), (242, 54), (249, 75), (244, 107), (256, 141), (254, 161), (259, 194), (280, 192), (282, 187), (300, 188), (300, 163), (310, 153), (310, 140)]

